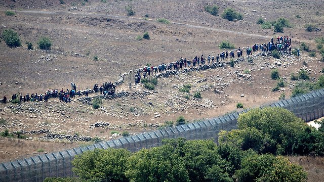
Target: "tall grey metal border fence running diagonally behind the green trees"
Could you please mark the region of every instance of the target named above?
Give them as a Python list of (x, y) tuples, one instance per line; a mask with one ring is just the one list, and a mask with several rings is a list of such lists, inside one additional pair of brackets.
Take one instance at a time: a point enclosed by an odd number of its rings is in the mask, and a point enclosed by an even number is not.
[[(292, 111), (304, 121), (311, 121), (324, 116), (324, 89), (313, 91), (287, 100), (264, 105), (260, 108), (282, 107)], [(43, 181), (46, 177), (73, 176), (72, 164), (75, 155), (85, 151), (107, 148), (127, 148), (135, 152), (142, 148), (151, 148), (161, 145), (163, 139), (183, 137), (194, 139), (217, 139), (219, 130), (231, 130), (236, 128), (238, 115), (242, 112), (232, 112), (217, 118), (207, 119), (194, 123), (167, 127), (150, 132), (122, 137), (115, 140), (104, 141), (89, 145), (33, 156), (21, 160), (0, 164), (0, 182), (2, 181)]]

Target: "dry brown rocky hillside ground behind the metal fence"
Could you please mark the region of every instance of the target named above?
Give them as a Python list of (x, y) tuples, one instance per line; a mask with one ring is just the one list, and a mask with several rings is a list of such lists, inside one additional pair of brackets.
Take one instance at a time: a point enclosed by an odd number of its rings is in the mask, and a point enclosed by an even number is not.
[[(1, 98), (4, 95), (11, 98), (15, 93), (39, 94), (47, 89), (66, 89), (70, 88), (71, 82), (83, 90), (92, 88), (95, 83), (116, 81), (120, 74), (146, 64), (169, 63), (180, 57), (192, 60), (201, 54), (206, 59), (208, 55), (216, 56), (223, 51), (218, 47), (223, 40), (234, 43), (235, 48), (244, 48), (268, 42), (271, 37), (287, 35), (292, 37), (293, 48), (306, 42), (311, 50), (315, 50), (314, 38), (323, 36), (323, 31), (305, 31), (308, 23), (323, 29), (323, 2), (315, 0), (303, 3), (297, 0), (266, 3), (252, 0), (64, 2), (0, 2), (0, 31), (12, 28), (19, 33), (22, 42), (19, 48), (9, 48), (5, 41), (0, 42)], [(204, 11), (207, 4), (218, 5), (219, 15), (224, 11), (223, 7), (233, 7), (244, 14), (244, 20), (230, 22), (221, 16), (212, 16)], [(135, 16), (126, 15), (125, 7), (128, 5), (133, 7)], [(77, 10), (69, 10), (71, 7)], [(6, 16), (5, 10), (12, 10), (16, 15)], [(296, 18), (297, 14), (301, 18)], [(262, 29), (256, 24), (260, 17), (266, 21), (284, 17), (293, 26), (285, 28), (284, 33), (273, 33), (272, 29)], [(158, 18), (165, 18), (170, 23), (159, 23), (156, 21)], [(136, 38), (144, 32), (149, 33), (150, 40)], [(36, 48), (42, 36), (51, 38), (52, 51)], [(36, 49), (28, 51), (26, 41), (32, 42)], [(93, 60), (95, 56), (98, 61)], [(324, 67), (319, 59), (319, 54), (311, 58), (306, 52), (302, 52), (299, 58), (284, 57), (281, 60), (258, 57), (253, 64), (243, 61), (234, 68), (227, 66), (159, 78), (155, 88), (157, 93), (136, 99), (105, 100), (98, 110), (76, 99), (69, 104), (60, 103), (57, 99), (51, 99), (48, 104), (23, 103), (19, 107), (2, 104), (0, 131), (49, 129), (52, 133), (109, 140), (112, 131), (133, 134), (157, 129), (165, 121), (175, 121), (180, 115), (189, 122), (217, 117), (235, 110), (238, 102), (250, 108), (278, 101), (281, 94), (289, 98), (296, 84), (289, 78), (291, 73), (303, 68), (309, 72), (311, 81), (316, 81)], [(282, 66), (275, 64), (278, 61)], [(286, 82), (279, 92), (271, 92), (276, 85), (276, 81), (270, 78), (273, 68), (279, 70)], [(238, 72), (245, 71), (250, 71), (253, 79), (237, 76)], [(198, 82), (204, 78), (206, 81)], [(130, 89), (129, 82), (133, 84), (132, 77), (126, 78), (124, 84), (117, 87), (117, 92), (146, 90), (142, 84)], [(179, 92), (179, 87), (187, 83), (192, 85), (190, 93)], [(215, 93), (215, 89), (220, 92)], [(192, 97), (196, 91), (203, 99)], [(186, 95), (189, 100), (184, 99)], [(109, 127), (90, 128), (95, 122), (109, 122)], [(44, 140), (40, 138), (43, 135), (30, 134), (28, 140), (0, 138), (0, 161), (89, 144)]]

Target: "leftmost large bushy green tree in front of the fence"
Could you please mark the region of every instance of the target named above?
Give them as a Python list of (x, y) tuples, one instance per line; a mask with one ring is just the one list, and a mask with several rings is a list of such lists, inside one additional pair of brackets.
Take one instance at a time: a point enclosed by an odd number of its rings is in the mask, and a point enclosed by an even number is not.
[(126, 149), (95, 149), (75, 156), (73, 172), (90, 181), (129, 181), (125, 176), (131, 152)]

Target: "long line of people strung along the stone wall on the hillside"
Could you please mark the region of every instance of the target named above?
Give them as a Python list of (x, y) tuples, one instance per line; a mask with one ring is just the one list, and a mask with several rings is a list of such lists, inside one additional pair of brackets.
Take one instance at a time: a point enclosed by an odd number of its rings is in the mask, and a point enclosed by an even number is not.
[[(205, 65), (205, 64), (213, 64), (218, 63), (219, 61), (224, 61), (225, 59), (229, 58), (235, 58), (235, 52), (237, 58), (243, 57), (244, 50), (246, 51), (246, 56), (250, 56), (257, 52), (272, 52), (272, 51), (278, 51), (279, 53), (287, 53), (291, 54), (292, 51), (292, 38), (288, 36), (278, 36), (276, 39), (271, 38), (271, 40), (268, 43), (255, 43), (254, 45), (247, 47), (247, 48), (238, 48), (237, 50), (232, 51), (226, 51), (221, 52), (220, 54), (217, 54), (217, 56), (209, 55), (207, 59), (205, 59), (204, 55), (201, 55), (200, 57), (195, 56), (191, 61), (190, 59), (186, 58), (180, 58), (179, 60), (175, 62), (171, 62), (169, 64), (161, 63), (158, 66), (151, 66), (147, 65), (142, 70), (142, 76), (145, 79), (147, 76), (151, 76), (154, 74), (157, 74), (159, 72), (163, 72), (166, 70), (178, 70), (183, 68), (190, 68), (195, 67), (199, 65)], [(299, 49), (297, 50), (297, 55), (299, 56)], [(135, 85), (138, 85), (141, 81), (141, 74), (140, 72), (137, 72), (135, 75)], [(130, 83), (131, 87), (131, 83)], [(94, 85), (94, 92), (99, 92), (100, 94), (104, 95), (113, 95), (115, 93), (116, 86), (111, 82), (105, 82), (100, 87), (98, 84)], [(49, 98), (58, 98), (60, 102), (69, 103), (71, 102), (72, 98), (75, 98), (75, 95), (78, 95), (80, 97), (81, 95), (85, 95), (88, 97), (89, 95), (89, 89), (86, 88), (84, 93), (81, 93), (80, 89), (76, 91), (76, 85), (74, 82), (71, 82), (71, 89), (64, 90), (63, 88), (59, 91), (58, 89), (48, 89), (46, 93), (44, 94), (31, 94), (27, 93), (26, 95), (22, 94), (14, 94), (12, 96), (12, 100), (19, 100), (20, 102), (38, 102), (38, 101), (45, 101), (47, 102)], [(7, 97), (5, 96), (3, 99), (3, 103), (6, 104)]]

